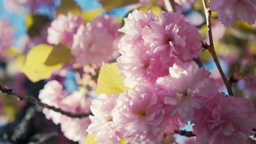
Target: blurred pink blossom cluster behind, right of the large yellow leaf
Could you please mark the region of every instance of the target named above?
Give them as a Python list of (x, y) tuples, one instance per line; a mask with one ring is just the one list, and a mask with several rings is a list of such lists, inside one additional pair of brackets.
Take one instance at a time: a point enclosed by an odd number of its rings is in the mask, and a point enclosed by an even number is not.
[(72, 46), (75, 62), (83, 66), (101, 66), (118, 56), (119, 27), (112, 15), (98, 16), (85, 26), (80, 16), (59, 15), (48, 28), (48, 43)]

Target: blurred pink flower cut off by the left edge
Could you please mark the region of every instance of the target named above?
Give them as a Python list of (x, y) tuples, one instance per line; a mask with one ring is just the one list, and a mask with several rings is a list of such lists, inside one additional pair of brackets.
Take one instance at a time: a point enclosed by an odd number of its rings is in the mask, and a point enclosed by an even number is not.
[[(6, 20), (0, 21), (0, 52), (2, 53), (13, 44), (14, 28), (11, 23)], [(2, 57), (2, 56), (1, 56)], [(3, 55), (4, 57), (4, 55)]]

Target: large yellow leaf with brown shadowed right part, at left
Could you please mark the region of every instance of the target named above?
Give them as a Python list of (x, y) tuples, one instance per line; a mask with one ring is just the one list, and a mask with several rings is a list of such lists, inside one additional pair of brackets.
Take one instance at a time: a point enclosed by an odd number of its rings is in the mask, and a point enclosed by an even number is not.
[(72, 58), (70, 49), (64, 45), (40, 44), (28, 52), (26, 62), (20, 70), (32, 82), (48, 79), (55, 70)]

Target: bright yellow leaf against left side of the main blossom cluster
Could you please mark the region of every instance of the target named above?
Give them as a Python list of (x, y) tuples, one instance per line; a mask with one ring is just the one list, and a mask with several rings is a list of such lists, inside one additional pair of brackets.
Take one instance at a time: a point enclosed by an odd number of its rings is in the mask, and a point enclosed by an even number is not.
[(123, 93), (129, 89), (124, 85), (123, 75), (119, 74), (117, 63), (103, 64), (98, 76), (97, 94), (113, 92)]

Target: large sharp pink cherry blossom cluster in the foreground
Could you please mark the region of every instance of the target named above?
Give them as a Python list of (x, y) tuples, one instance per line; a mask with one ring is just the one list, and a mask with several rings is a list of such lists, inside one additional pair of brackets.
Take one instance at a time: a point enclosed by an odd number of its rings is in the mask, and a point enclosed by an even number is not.
[(191, 121), (197, 143), (245, 143), (256, 127), (253, 104), (219, 93), (197, 67), (202, 38), (179, 13), (134, 10), (124, 19), (117, 62), (130, 89), (92, 101), (87, 131), (98, 143), (166, 143)]

